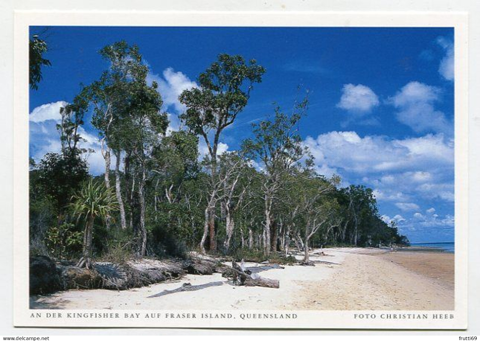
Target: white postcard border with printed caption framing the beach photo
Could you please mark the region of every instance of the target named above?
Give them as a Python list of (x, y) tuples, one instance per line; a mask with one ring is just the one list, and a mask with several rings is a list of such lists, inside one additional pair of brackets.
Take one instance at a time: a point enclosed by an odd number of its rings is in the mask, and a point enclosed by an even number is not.
[[(466, 329), (468, 267), (468, 16), (464, 12), (55, 12), (17, 11), (14, 32), (14, 325), (28, 327), (175, 327), (276, 329)], [(148, 311), (28, 309), (28, 26), (318, 26), (455, 28), (455, 310), (454, 311)], [(35, 314), (41, 313), (41, 317)], [(62, 313), (62, 317), (47, 314)], [(112, 313), (119, 318), (74, 318)], [(140, 314), (125, 318), (124, 314)], [(161, 314), (145, 318), (148, 313)], [(168, 319), (166, 313), (232, 314)], [(296, 314), (295, 319), (242, 319), (240, 314)], [(33, 317), (31, 314), (34, 314)], [(374, 314), (357, 318), (355, 314)], [(427, 314), (427, 319), (381, 318)], [(434, 314), (447, 317), (432, 318)], [(453, 318), (449, 318), (450, 316)], [(135, 315), (131, 315), (135, 316)], [(235, 317), (235, 318), (233, 318)]]

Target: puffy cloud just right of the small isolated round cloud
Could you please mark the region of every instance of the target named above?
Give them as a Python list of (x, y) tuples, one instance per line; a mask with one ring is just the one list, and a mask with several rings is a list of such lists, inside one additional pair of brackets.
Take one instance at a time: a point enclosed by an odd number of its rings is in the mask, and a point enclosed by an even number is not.
[(453, 132), (453, 124), (444, 112), (435, 110), (434, 104), (440, 99), (439, 88), (420, 82), (410, 82), (400, 89), (388, 102), (397, 110), (396, 118), (417, 133)]

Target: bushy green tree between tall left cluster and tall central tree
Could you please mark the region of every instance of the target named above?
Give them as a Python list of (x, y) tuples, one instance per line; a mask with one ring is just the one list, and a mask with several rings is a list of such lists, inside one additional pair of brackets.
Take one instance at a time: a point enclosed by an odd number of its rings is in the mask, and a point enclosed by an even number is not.
[(203, 188), (198, 181), (198, 137), (173, 131), (154, 146), (149, 162), (150, 209), (154, 238), (165, 233), (188, 239), (190, 246), (201, 224)]

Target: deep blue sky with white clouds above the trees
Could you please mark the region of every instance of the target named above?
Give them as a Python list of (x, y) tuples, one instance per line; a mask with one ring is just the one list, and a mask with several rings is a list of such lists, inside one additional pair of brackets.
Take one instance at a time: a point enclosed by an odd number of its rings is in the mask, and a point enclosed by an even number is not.
[[(43, 27), (31, 27), (31, 34)], [(251, 122), (287, 112), (301, 85), (310, 109), (300, 134), (318, 171), (374, 189), (380, 214), (412, 242), (454, 239), (454, 74), (452, 28), (49, 27), (52, 66), (30, 91), (30, 155), (58, 151), (58, 110), (108, 67), (98, 50), (137, 44), (159, 83), (171, 128), (178, 95), (219, 53), (266, 68), (247, 108), (225, 131), (223, 150), (251, 135)], [(87, 123), (92, 173), (102, 172), (97, 133)], [(204, 149), (204, 146), (201, 146)]]

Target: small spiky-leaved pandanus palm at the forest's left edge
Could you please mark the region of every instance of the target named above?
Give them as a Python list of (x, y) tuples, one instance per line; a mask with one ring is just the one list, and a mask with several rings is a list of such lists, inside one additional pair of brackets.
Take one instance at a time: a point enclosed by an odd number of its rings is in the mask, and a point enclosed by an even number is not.
[(117, 210), (115, 193), (103, 182), (89, 180), (72, 196), (72, 210), (79, 218), (85, 219), (84, 252), (78, 262), (80, 268), (92, 267), (92, 240), (95, 218), (106, 219)]

